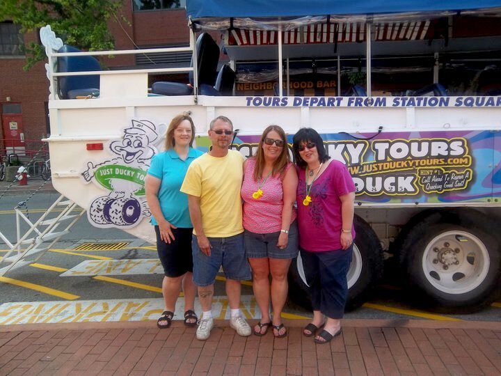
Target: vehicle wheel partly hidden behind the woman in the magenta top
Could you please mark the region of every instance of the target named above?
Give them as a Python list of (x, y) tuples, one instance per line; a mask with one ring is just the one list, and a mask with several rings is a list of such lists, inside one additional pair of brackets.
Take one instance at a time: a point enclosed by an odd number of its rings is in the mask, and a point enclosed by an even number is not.
[[(351, 311), (361, 306), (367, 294), (383, 274), (383, 250), (374, 230), (358, 216), (353, 219), (356, 230), (353, 257), (348, 270), (348, 301)], [(305, 282), (301, 256), (292, 260), (289, 268), (289, 298), (295, 304), (311, 310), (308, 285)]]

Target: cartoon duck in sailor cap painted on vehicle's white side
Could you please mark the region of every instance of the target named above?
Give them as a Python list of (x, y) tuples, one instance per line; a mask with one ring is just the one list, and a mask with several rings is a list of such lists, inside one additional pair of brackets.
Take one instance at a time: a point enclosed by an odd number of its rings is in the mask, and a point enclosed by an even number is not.
[(110, 191), (90, 203), (87, 211), (90, 224), (101, 228), (132, 228), (142, 217), (151, 217), (144, 198), (144, 180), (150, 160), (157, 153), (154, 145), (165, 130), (165, 124), (157, 129), (149, 120), (132, 120), (132, 126), (123, 130), (122, 138), (109, 143), (108, 148), (116, 157), (99, 164), (88, 162), (81, 173), (84, 183), (92, 181)]

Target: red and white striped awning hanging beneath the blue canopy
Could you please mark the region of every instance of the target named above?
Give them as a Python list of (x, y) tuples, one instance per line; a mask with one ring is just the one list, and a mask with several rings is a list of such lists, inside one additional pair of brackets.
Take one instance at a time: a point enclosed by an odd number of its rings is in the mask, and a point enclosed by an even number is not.
[[(430, 21), (379, 23), (372, 27), (372, 40), (422, 40), (427, 37)], [(276, 45), (278, 31), (232, 29), (227, 31), (228, 45)], [(363, 22), (324, 23), (282, 31), (284, 45), (312, 43), (363, 42)]]

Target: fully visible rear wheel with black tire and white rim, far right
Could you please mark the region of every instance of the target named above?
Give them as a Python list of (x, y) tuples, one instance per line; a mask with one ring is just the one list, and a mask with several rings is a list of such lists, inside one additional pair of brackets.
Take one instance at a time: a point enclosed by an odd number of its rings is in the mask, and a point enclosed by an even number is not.
[(401, 266), (415, 303), (443, 313), (471, 313), (500, 293), (497, 226), (475, 210), (436, 212), (410, 230)]

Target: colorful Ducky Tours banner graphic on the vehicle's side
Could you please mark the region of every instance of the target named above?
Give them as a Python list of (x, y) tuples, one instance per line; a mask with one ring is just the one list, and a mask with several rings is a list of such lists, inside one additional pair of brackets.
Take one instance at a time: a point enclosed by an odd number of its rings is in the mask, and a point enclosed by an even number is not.
[[(487, 203), (501, 196), (497, 132), (321, 136), (328, 155), (348, 166), (358, 203)], [(233, 148), (248, 157), (258, 140), (237, 137)]]

